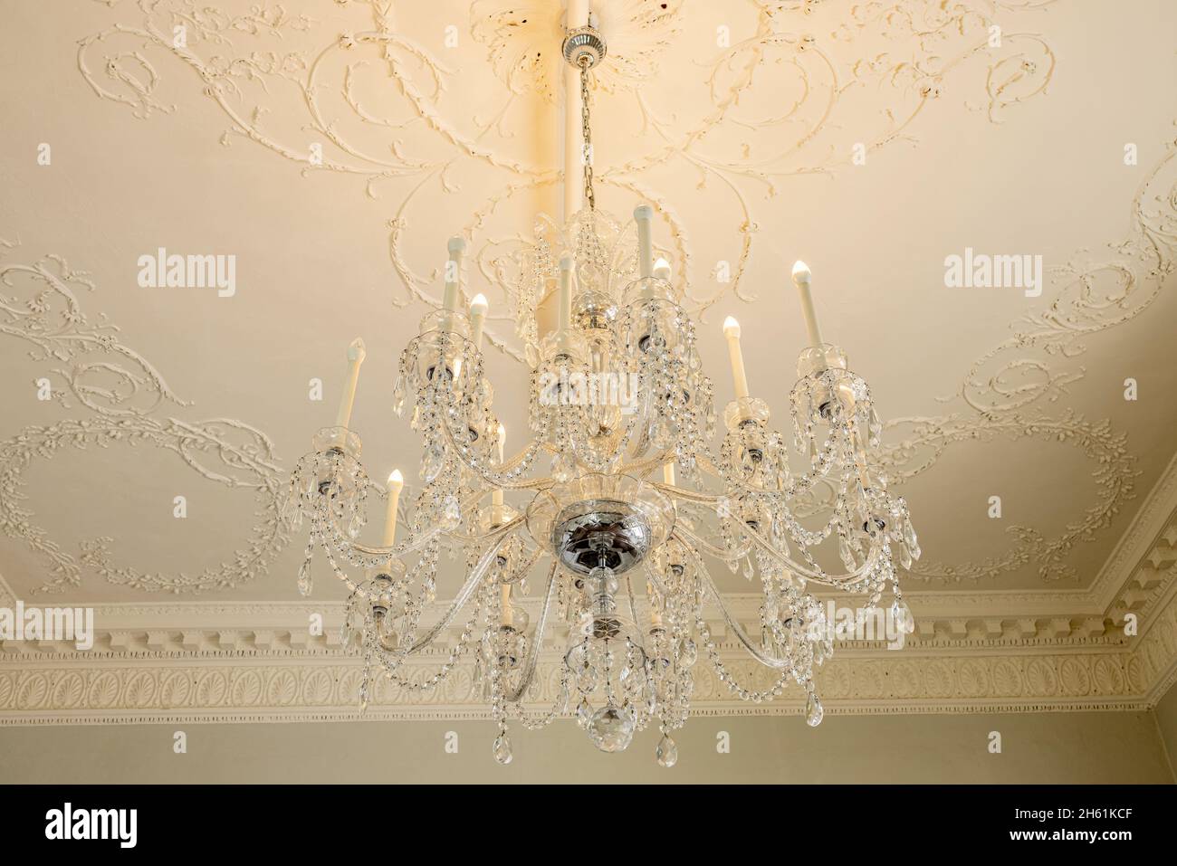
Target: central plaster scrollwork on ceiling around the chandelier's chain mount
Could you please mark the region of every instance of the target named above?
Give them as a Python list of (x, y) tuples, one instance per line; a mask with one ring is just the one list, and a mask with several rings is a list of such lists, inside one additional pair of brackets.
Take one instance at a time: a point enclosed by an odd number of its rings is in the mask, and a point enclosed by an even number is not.
[[(1000, 6), (1016, 11), (1037, 5)], [(353, 0), (347, 6), (366, 9), (367, 20), (358, 16), (357, 28), (343, 34), (319, 33), (318, 22), (290, 16), (280, 7), (232, 15), (198, 6), (195, 0), (139, 0), (138, 6), (139, 22), (114, 25), (79, 45), (79, 69), (99, 96), (131, 106), (138, 118), (173, 109), (157, 96), (160, 72), (153, 58), (167, 58), (195, 72), (204, 82), (204, 94), (228, 118), (231, 126), (222, 142), (244, 136), (299, 164), (305, 174), (334, 172), (364, 178), (372, 198), (379, 196), (384, 181), (408, 181), (407, 192), (398, 187), (401, 204), (388, 216), (388, 257), (405, 288), (404, 297), (393, 299), (398, 305), (440, 304), (437, 273), (419, 272), (406, 255), (408, 248), (419, 246), (412, 242), (412, 214), (425, 196), (460, 191), (470, 199), (471, 185), (459, 178), (464, 167), (480, 166), (487, 169), (490, 191), (464, 233), (474, 241), (473, 260), (481, 277), (492, 286), (501, 285), (512, 260), (501, 253), (488, 254), (491, 247), (501, 248), (505, 242), (488, 215), (519, 193), (560, 179), (554, 166), (520, 155), (512, 147), (516, 136), (504, 122), (521, 99), (544, 104), (557, 99), (556, 85), (563, 75), (563, 60), (553, 48), (563, 18), (559, 4), (480, 0), (472, 5), (470, 33), (486, 52), (478, 62), (501, 84), (501, 94), (486, 115), (473, 118), (465, 111), (452, 112), (446, 96), (457, 71), (400, 26), (399, 5), (392, 0)], [(593, 89), (599, 98), (611, 100), (609, 109), (636, 112), (647, 133), (640, 136), (641, 142), (653, 142), (637, 144), (634, 152), (599, 164), (597, 179), (623, 198), (659, 205), (681, 262), (679, 288), (696, 312), (729, 292), (743, 300), (753, 299), (742, 281), (759, 225), (753, 199), (776, 195), (791, 176), (833, 173), (850, 165), (850, 148), (833, 138), (837, 131), (853, 126), (852, 140), (865, 142), (867, 149), (911, 140), (911, 124), (956, 74), (984, 79), (986, 112), (996, 122), (998, 112), (1043, 93), (1055, 65), (1049, 46), (1033, 34), (1010, 31), (1003, 47), (990, 48), (985, 27), (992, 21), (993, 8), (978, 0), (950, 6), (926, 0), (852, 5), (839, 13), (846, 20), (820, 22), (816, 20), (819, 15), (813, 21), (806, 16), (812, 11), (807, 4), (747, 0), (732, 9), (742, 32), (717, 40), (711, 56), (696, 61), (703, 67), (711, 99), (659, 111), (652, 106), (649, 88), (663, 71), (683, 22), (692, 12), (699, 13), (680, 0), (600, 0), (594, 8), (610, 52), (593, 73)], [(796, 14), (800, 12), (806, 15)], [(886, 22), (882, 35), (890, 51), (876, 51), (876, 39), (870, 40), (870, 47), (855, 45), (863, 54), (851, 64), (847, 78), (830, 48), (836, 42), (866, 41), (864, 31), (877, 29), (877, 21)], [(173, 44), (175, 22), (192, 25), (186, 47)], [(799, 25), (811, 22), (814, 31), (799, 29)], [(831, 32), (819, 33), (818, 26)], [(290, 49), (272, 47), (293, 31), (313, 33), (313, 42), (300, 40), (300, 47)], [(228, 56), (221, 54), (233, 49)], [(99, 54), (105, 62), (99, 62)], [(377, 74), (383, 78), (373, 79)], [(267, 87), (267, 81), (277, 79), (297, 86), (301, 105), (278, 104), (278, 93)], [(364, 82), (371, 86), (373, 80), (377, 89), (370, 87), (364, 95)], [(390, 92), (400, 98), (398, 105), (390, 104)], [(742, 101), (754, 102), (753, 94), (769, 92), (786, 94), (786, 109), (758, 116), (740, 107)], [(251, 101), (254, 106), (247, 109)], [(864, 104), (869, 111), (859, 112)], [(304, 141), (270, 129), (267, 118), (290, 112), (305, 114), (307, 122), (300, 131), (321, 135), (332, 153), (312, 159)], [(554, 105), (550, 113), (557, 124)], [(873, 118), (884, 121), (877, 129), (870, 128)], [(417, 134), (421, 129), (430, 134)], [(710, 144), (716, 133), (733, 131), (746, 141), (736, 152), (716, 151)], [(700, 188), (716, 186), (738, 208), (739, 252), (730, 281), (717, 282), (710, 271), (703, 273), (696, 265), (689, 219), (671, 207), (651, 176), (667, 161), (694, 173)], [(513, 320), (500, 317), (488, 322), (486, 333), (500, 349), (521, 358), (517, 335), (511, 333)]]

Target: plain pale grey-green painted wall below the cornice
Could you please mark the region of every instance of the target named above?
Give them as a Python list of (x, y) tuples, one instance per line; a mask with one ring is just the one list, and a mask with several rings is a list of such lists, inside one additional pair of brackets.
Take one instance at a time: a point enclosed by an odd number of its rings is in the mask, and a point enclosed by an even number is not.
[[(512, 728), (514, 760), (491, 758), (494, 727), (466, 722), (0, 728), (5, 782), (1172, 782), (1155, 713), (692, 719), (678, 765), (654, 762), (658, 734), (625, 753), (597, 752), (570, 721)], [(446, 732), (458, 753), (445, 751)], [(1002, 753), (989, 734), (1002, 734)], [(719, 732), (731, 751), (717, 752)], [(1170, 744), (1173, 740), (1170, 739)], [(1173, 753), (1170, 745), (1170, 753)]]

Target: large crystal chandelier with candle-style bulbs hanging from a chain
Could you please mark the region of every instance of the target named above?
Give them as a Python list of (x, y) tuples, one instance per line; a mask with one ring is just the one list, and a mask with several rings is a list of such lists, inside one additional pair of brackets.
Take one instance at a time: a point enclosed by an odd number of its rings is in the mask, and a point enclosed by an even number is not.
[[(532, 365), (530, 441), (505, 455), (483, 367), (487, 305), (478, 295), (468, 311), (459, 308), (465, 242), (454, 238), (443, 306), (421, 320), (400, 357), (393, 408), (410, 414), (424, 441), (423, 486), (401, 539), (404, 481), (393, 472), (383, 544), (358, 540), (374, 487), (348, 428), (361, 341), (348, 351), (337, 424), (319, 431), (291, 478), (298, 518), (310, 522), (299, 589), (311, 592), (318, 547), (351, 592), (344, 633), (364, 658), (360, 706), (375, 675), (419, 692), (472, 654), (474, 682), (499, 728), (500, 764), (512, 757), (511, 719), (534, 730), (572, 714), (605, 752), (626, 748), (636, 731), (656, 724), (658, 762), (672, 766), (671, 734), (690, 712), (700, 645), (719, 680), (744, 700), (771, 700), (796, 682), (807, 695), (806, 721), (818, 725), (813, 675), (833, 651), (833, 632), (812, 585), (866, 597), (867, 607), (890, 593), (896, 626), (910, 633), (915, 625), (897, 573), (919, 557), (907, 506), (877, 468), (880, 424), (870, 391), (843, 351), (822, 339), (803, 262), (792, 278), (810, 346), (790, 405), (792, 446), (805, 471), (791, 466), (765, 401), (749, 394), (733, 319), (723, 333), (736, 399), (723, 411), (712, 454), (711, 381), (670, 267), (654, 261), (653, 212), (638, 207), (631, 232), (596, 207), (588, 78), (605, 52), (592, 26), (566, 34), (564, 54), (579, 78), (585, 206), (566, 226), (539, 233), (526, 279), (512, 292)], [(538, 222), (545, 225), (552, 224)], [(632, 234), (636, 248), (627, 246)], [(553, 284), (557, 325), (540, 338), (536, 308)], [(507, 505), (507, 492), (526, 506)], [(842, 568), (831, 572), (834, 547)], [(443, 554), (464, 561), (466, 577), (434, 618), (427, 612)], [(710, 573), (718, 562), (759, 581), (758, 634), (725, 606)], [(531, 624), (520, 602), (533, 572), (545, 578)], [(769, 687), (753, 688), (725, 667), (705, 607), (772, 671)], [(445, 660), (414, 675), (406, 661), (452, 631), (460, 634), (441, 647)], [(565, 631), (558, 697), (551, 707), (526, 710), (540, 648)]]

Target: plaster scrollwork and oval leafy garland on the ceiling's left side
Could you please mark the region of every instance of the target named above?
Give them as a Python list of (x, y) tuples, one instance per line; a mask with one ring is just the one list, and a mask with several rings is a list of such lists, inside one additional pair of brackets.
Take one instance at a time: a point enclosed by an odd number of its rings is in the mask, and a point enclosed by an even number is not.
[[(15, 246), (5, 241), (4, 253)], [(29, 358), (56, 380), (55, 385), (51, 381), (51, 393), (59, 395), (62, 407), (71, 407), (72, 395), (91, 412), (87, 418), (29, 426), (0, 441), (0, 531), (25, 542), (45, 562), (48, 577), (34, 592), (80, 585), (84, 565), (111, 584), (172, 593), (232, 587), (265, 573), (288, 541), (281, 509), (285, 484), (271, 440), (239, 420), (152, 415), (164, 405), (191, 404), (179, 399), (162, 374), (120, 340), (115, 325), (86, 315), (79, 294), (94, 291), (94, 284), (61, 257), (47, 255), (32, 264), (0, 259), (0, 286), (5, 289), (0, 334), (33, 345)], [(193, 575), (119, 567), (112, 561), (109, 538), (82, 541), (80, 558), (67, 553), (21, 504), (25, 473), (35, 460), (51, 459), (66, 448), (114, 445), (171, 451), (210, 481), (254, 491), (257, 524), (246, 546), (228, 561)]]

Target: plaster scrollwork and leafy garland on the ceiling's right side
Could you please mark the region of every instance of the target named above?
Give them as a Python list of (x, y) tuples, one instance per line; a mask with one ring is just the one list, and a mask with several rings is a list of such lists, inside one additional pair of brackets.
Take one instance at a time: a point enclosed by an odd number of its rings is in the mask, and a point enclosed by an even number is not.
[(1042, 405), (1057, 402), (1069, 385), (1083, 379), (1086, 371), (1075, 359), (1088, 351), (1089, 338), (1139, 317), (1171, 279), (1177, 264), (1175, 156), (1177, 140), (1170, 140), (1132, 200), (1131, 235), (1108, 246), (1112, 258), (1058, 268), (1060, 288), (1046, 307), (1013, 322), (1015, 334), (972, 365), (957, 394), (943, 398), (963, 401), (971, 412), (887, 425), (893, 435), (903, 437), (887, 448), (897, 480), (926, 471), (953, 442), (1030, 437), (1082, 449), (1095, 465), (1096, 502), (1053, 539), (1032, 527), (1011, 526), (1008, 532), (1015, 544), (1008, 552), (960, 566), (919, 562), (912, 577), (980, 580), (1032, 562), (1043, 580), (1073, 578), (1075, 568), (1065, 561), (1070, 551), (1109, 526), (1133, 498), (1139, 472), (1126, 438), (1113, 433), (1106, 420), (1084, 421), (1071, 412), (1050, 417)]

